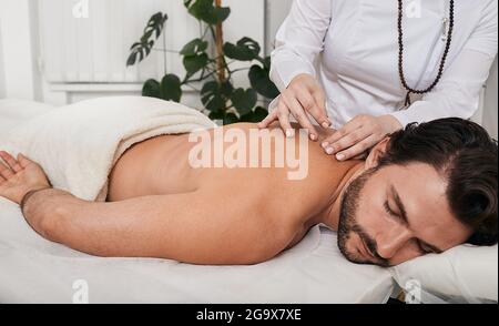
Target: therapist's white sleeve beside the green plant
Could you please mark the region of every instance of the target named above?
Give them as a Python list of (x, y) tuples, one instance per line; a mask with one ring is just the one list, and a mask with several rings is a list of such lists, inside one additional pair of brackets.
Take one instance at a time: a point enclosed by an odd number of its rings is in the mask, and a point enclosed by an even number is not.
[(292, 10), (281, 26), (272, 52), (271, 80), (279, 91), (301, 73), (316, 77), (317, 54), (330, 23), (333, 0), (294, 0)]

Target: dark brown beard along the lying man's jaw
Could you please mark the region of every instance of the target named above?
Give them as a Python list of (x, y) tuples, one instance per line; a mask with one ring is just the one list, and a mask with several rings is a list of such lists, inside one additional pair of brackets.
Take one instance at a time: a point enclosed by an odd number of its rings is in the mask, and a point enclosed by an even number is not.
[[(342, 205), (339, 208), (339, 224), (338, 224), (338, 247), (342, 254), (352, 263), (356, 264), (375, 264), (383, 267), (390, 266), (389, 261), (378, 255), (376, 242), (364, 231), (364, 228), (357, 223), (356, 213), (358, 208), (358, 201), (360, 193), (366, 185), (366, 182), (378, 171), (375, 167), (366, 171), (356, 180), (354, 180), (345, 191), (342, 198)], [(376, 257), (376, 262), (366, 261), (359, 257), (357, 253), (349, 252), (346, 247), (348, 240), (353, 234), (357, 234), (360, 240), (364, 241), (366, 246)]]

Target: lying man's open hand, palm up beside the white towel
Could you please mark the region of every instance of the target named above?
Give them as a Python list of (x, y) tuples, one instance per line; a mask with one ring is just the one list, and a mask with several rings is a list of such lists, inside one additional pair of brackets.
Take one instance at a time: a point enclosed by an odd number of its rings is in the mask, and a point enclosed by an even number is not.
[[(2, 160), (4, 163), (2, 163)], [(43, 169), (21, 153), (18, 160), (0, 151), (0, 196), (21, 204), (33, 190), (51, 187)]]

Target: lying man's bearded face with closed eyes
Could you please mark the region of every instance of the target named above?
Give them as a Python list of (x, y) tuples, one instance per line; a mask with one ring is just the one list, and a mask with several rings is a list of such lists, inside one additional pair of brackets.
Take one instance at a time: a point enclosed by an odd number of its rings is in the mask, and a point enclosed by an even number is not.
[(394, 266), (465, 243), (472, 231), (450, 212), (446, 187), (428, 164), (366, 171), (342, 200), (339, 249), (354, 263)]

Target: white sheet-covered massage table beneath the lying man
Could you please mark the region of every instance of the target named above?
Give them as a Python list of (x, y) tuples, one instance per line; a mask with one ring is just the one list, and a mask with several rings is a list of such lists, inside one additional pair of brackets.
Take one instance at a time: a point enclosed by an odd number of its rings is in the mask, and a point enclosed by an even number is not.
[[(2, 115), (7, 106), (19, 113)], [(0, 137), (50, 109), (1, 100)], [(72, 303), (80, 279), (90, 303), (386, 303), (396, 287), (387, 269), (347, 262), (336, 234), (319, 225), (294, 248), (253, 266), (100, 258), (45, 241), (18, 205), (0, 197), (0, 303)]]

